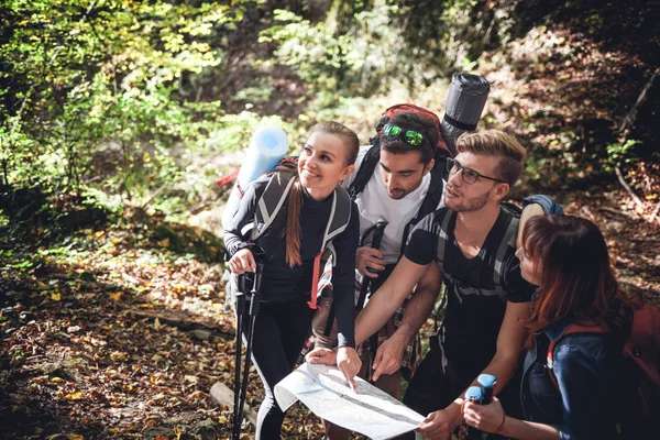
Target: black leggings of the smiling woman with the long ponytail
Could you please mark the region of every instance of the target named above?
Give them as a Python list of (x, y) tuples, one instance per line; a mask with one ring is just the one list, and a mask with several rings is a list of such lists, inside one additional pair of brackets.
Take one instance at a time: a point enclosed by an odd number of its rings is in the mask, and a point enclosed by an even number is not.
[[(311, 332), (314, 310), (307, 297), (286, 302), (262, 302), (254, 324), (252, 362), (264, 383), (264, 400), (256, 419), (256, 440), (277, 440), (284, 413), (275, 402), (273, 389), (286, 377), (300, 356)], [(243, 319), (243, 336), (248, 334), (249, 319)]]

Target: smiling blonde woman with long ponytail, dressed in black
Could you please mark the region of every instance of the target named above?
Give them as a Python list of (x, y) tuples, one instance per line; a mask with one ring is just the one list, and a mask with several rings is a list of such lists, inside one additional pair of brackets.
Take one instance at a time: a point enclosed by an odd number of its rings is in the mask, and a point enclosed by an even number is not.
[[(256, 270), (255, 254), (264, 262), (262, 304), (255, 320), (252, 360), (264, 383), (256, 439), (278, 439), (284, 413), (273, 388), (295, 367), (311, 329), (314, 310), (307, 300), (311, 289), (315, 256), (321, 250), (331, 215), (332, 194), (351, 175), (360, 142), (355, 133), (337, 122), (321, 122), (311, 130), (300, 151), (297, 176), (286, 202), (268, 229), (249, 241), (246, 229), (254, 220), (256, 202), (276, 172), (256, 180), (241, 200), (239, 211), (224, 232), (229, 267), (241, 275)], [(339, 189), (343, 190), (343, 189)], [(354, 341), (354, 268), (359, 240), (359, 216), (351, 204), (348, 228), (332, 243), (337, 263), (332, 271), (339, 327), (338, 366), (354, 387), (361, 361)], [(251, 285), (250, 283), (248, 285)], [(245, 327), (243, 332), (246, 333)]]

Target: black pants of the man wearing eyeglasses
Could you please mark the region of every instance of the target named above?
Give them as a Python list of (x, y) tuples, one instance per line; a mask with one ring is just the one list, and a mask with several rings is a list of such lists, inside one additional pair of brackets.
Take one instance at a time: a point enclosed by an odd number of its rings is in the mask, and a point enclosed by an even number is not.
[[(458, 367), (448, 360), (442, 371), (442, 352), (438, 338), (430, 341), (430, 350), (421, 361), (415, 375), (408, 384), (404, 396), (404, 404), (422, 416), (448, 407), (457, 397), (461, 396), (468, 386), (479, 376), (486, 365), (470, 365)], [(516, 374), (498, 395), (507, 415), (521, 418), (520, 409), (520, 376)], [(493, 435), (488, 439), (501, 438)], [(398, 439), (415, 439), (414, 432), (405, 433)]]

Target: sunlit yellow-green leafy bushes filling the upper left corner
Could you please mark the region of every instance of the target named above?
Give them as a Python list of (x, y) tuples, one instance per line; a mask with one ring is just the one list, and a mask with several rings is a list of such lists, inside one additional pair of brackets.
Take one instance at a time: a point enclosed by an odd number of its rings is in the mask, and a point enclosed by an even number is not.
[(221, 65), (228, 43), (218, 42), (249, 3), (9, 1), (2, 180), (102, 189), (130, 204), (165, 197), (160, 188), (179, 183), (188, 165), (180, 150), (222, 130), (220, 102), (183, 101), (182, 85)]

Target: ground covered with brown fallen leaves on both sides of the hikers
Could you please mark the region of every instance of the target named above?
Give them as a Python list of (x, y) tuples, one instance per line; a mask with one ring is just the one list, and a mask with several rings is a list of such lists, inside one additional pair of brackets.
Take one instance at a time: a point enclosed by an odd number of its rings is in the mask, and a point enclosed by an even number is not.
[[(622, 210), (618, 188), (556, 196), (603, 229), (628, 292), (659, 304), (658, 224)], [(221, 268), (172, 252), (160, 222), (0, 239), (0, 437), (229, 438), (231, 408), (210, 399), (234, 371)], [(258, 386), (252, 371), (253, 408)], [(320, 420), (297, 406), (283, 436), (321, 438)]]

